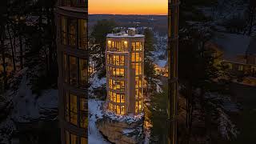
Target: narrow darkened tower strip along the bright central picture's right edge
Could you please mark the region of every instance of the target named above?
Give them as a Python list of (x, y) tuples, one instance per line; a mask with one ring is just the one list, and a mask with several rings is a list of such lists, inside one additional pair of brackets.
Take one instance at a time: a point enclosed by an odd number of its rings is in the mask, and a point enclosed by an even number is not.
[(169, 128), (169, 144), (177, 143), (177, 114), (178, 114), (178, 13), (179, 0), (168, 1), (168, 120)]

